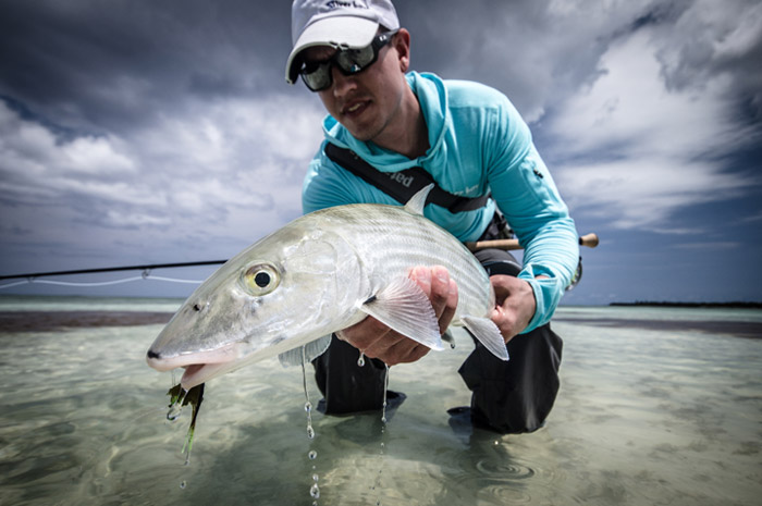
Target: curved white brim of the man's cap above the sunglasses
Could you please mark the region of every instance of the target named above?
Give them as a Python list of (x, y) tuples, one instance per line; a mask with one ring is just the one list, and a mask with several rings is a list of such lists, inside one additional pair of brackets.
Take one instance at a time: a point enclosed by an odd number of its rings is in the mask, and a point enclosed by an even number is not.
[(294, 84), (299, 73), (297, 55), (314, 46), (364, 48), (373, 41), (379, 24), (356, 16), (332, 16), (316, 21), (302, 32), (286, 62), (286, 82)]

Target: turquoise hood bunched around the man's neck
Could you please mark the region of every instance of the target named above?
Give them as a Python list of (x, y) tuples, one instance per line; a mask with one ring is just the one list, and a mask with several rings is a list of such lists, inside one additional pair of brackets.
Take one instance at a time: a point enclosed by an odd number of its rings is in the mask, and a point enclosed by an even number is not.
[(406, 78), (418, 98), (429, 131), (430, 147), (426, 155), (410, 160), (404, 155), (383, 149), (373, 143), (357, 140), (331, 115), (323, 120), (325, 139), (336, 146), (352, 149), (381, 172), (397, 172), (416, 165), (423, 169), (430, 165), (443, 165), (447, 156), (444, 137), (452, 124), (447, 112), (447, 91), (444, 83), (434, 74), (417, 72), (408, 73)]

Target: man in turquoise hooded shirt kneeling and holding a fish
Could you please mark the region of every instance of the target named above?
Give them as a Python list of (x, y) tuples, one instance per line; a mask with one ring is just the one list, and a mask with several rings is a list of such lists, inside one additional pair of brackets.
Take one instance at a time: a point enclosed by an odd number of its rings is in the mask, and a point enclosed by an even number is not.
[[(491, 274), (497, 300), (491, 319), (511, 360), (503, 362), (476, 343), (459, 372), (474, 392), (476, 424), (500, 432), (538, 429), (558, 388), (562, 343), (548, 322), (570, 282), (578, 246), (574, 222), (527, 125), (492, 88), (408, 72), (410, 34), (389, 0), (295, 0), (292, 35), (286, 81), (300, 76), (329, 112), (325, 141), (304, 184), (305, 212), (354, 202), (401, 203), (355, 175), (347, 166), (355, 163), (327, 153), (339, 147), (383, 174), (421, 166), (444, 193), (478, 202), (476, 209), (426, 207), (427, 218), (460, 240), (495, 237), (495, 206), (505, 214), (525, 246), (524, 267), (503, 251), (478, 257)], [(446, 269), (419, 267), (410, 277), (430, 297), (440, 329), (446, 329), (457, 305), (457, 286)], [(358, 349), (376, 360), (358, 367)], [(427, 353), (372, 318), (342, 331), (315, 362), (325, 412), (379, 408), (384, 363), (416, 361)]]

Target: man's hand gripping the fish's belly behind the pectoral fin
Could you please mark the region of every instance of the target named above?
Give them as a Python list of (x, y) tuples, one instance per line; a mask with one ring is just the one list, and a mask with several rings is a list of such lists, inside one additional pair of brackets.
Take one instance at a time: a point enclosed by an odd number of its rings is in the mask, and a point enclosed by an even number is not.
[[(416, 267), (409, 277), (431, 300), (439, 320), (440, 334), (450, 325), (457, 307), (457, 286), (441, 266)], [(530, 288), (531, 291), (531, 288)], [(531, 318), (531, 317), (530, 317)], [(429, 353), (429, 348), (391, 330), (377, 319), (368, 317), (361, 322), (336, 334), (369, 358), (379, 358), (388, 366), (415, 362)]]

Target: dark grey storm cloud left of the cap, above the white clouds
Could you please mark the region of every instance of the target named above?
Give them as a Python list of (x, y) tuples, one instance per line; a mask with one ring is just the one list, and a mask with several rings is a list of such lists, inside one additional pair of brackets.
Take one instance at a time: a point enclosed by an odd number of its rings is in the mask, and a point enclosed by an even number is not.
[(93, 133), (283, 83), (286, 2), (0, 2), (0, 95)]

